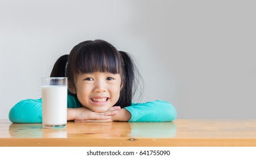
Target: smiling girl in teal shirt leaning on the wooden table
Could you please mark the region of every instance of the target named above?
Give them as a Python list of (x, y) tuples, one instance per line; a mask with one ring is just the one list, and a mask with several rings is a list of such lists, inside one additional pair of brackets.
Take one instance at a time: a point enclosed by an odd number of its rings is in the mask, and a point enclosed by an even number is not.
[[(129, 54), (103, 40), (84, 41), (54, 64), (50, 77), (68, 78), (67, 120), (76, 122), (159, 122), (176, 119), (168, 102), (132, 103), (135, 65)], [(42, 122), (42, 100), (26, 99), (11, 108), (17, 123)]]

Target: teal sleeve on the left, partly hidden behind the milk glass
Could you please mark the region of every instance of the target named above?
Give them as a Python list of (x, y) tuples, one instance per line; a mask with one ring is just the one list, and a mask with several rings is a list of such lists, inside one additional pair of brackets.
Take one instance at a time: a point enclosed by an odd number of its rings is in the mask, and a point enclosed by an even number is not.
[[(80, 103), (73, 95), (67, 95), (67, 108), (78, 108)], [(41, 123), (42, 99), (25, 99), (11, 108), (9, 120), (14, 123)]]

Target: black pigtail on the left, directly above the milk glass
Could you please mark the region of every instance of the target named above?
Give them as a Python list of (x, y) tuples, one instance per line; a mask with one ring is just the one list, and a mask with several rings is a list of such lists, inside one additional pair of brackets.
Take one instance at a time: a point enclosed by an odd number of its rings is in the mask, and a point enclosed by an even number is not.
[(68, 54), (59, 57), (59, 59), (53, 66), (53, 70), (52, 73), (50, 73), (50, 77), (66, 77), (66, 65), (68, 57)]

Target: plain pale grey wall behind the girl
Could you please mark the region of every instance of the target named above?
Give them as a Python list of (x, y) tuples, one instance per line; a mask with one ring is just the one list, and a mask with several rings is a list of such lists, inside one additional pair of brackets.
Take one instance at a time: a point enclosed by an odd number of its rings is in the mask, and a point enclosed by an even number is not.
[(178, 119), (256, 119), (254, 1), (0, 1), (0, 119), (40, 98), (40, 78), (88, 39), (138, 61), (142, 102), (167, 100)]

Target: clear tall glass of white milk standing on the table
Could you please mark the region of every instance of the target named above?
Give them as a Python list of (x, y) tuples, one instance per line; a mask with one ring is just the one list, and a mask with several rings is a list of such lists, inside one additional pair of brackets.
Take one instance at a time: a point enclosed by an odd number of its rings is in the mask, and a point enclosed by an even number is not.
[(42, 128), (66, 128), (67, 77), (45, 77), (42, 82)]

